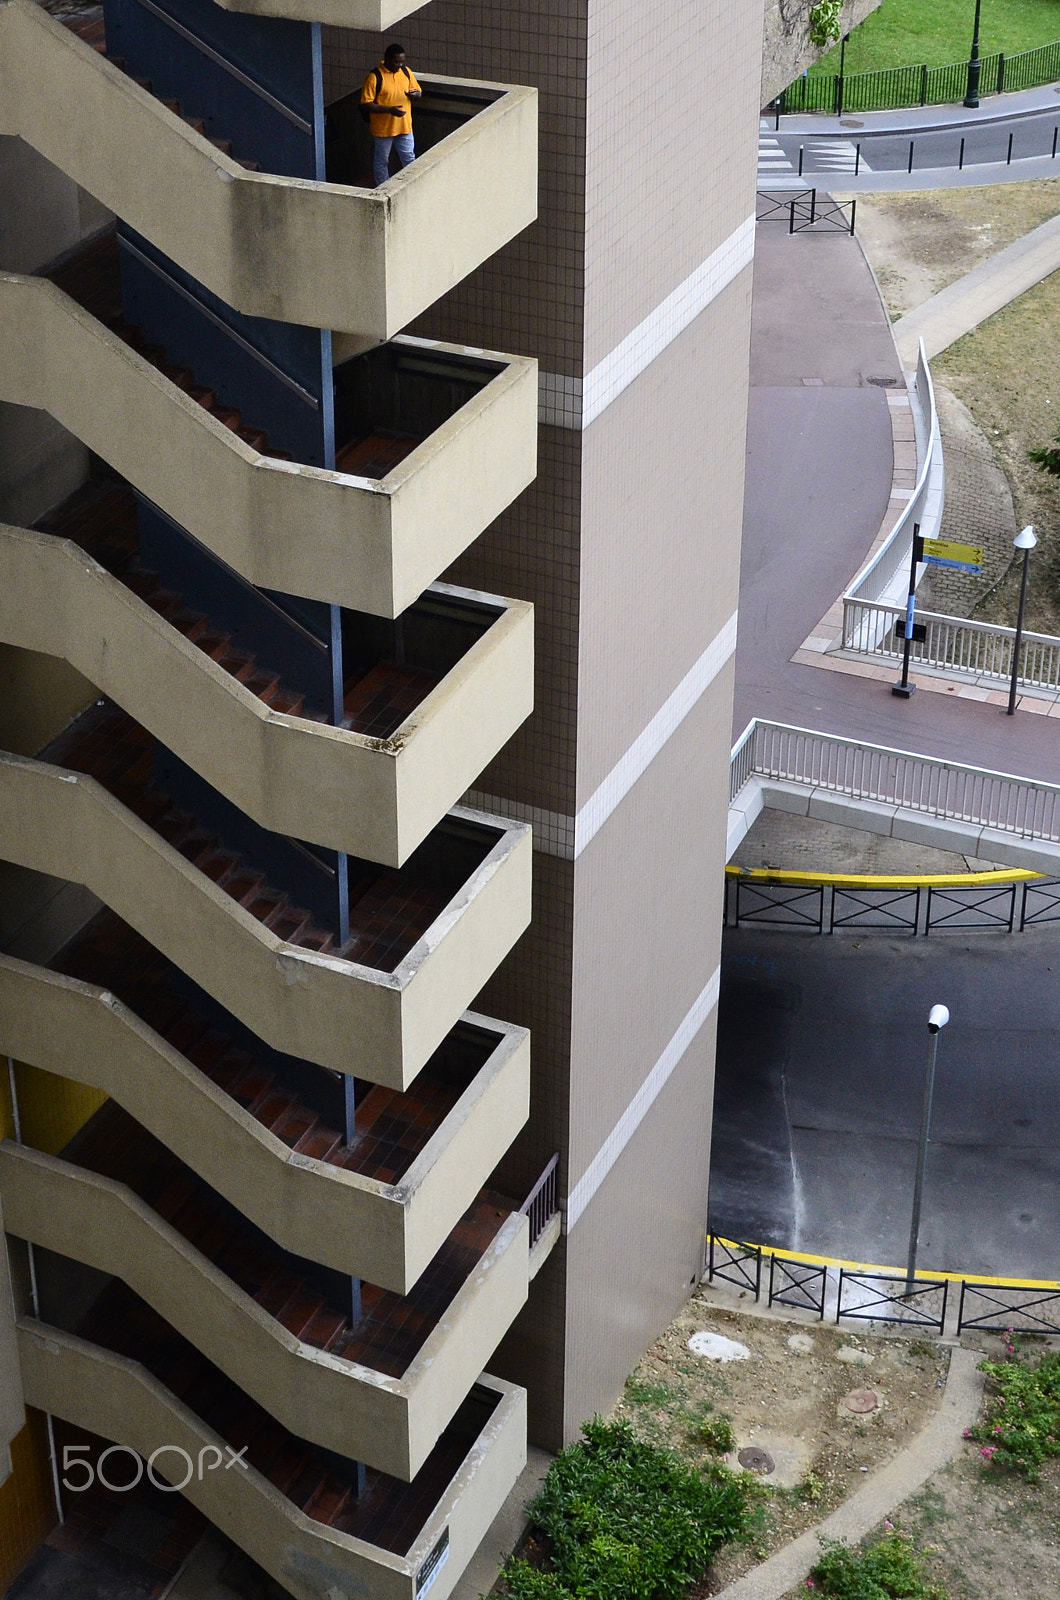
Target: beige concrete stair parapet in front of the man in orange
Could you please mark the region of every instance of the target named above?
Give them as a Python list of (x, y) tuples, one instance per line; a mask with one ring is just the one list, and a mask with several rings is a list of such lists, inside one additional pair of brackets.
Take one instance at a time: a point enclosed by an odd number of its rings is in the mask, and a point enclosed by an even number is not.
[(383, 190), (279, 178), (223, 155), (34, 0), (0, 5), (2, 133), (237, 310), (371, 339), (533, 221), (536, 91), (490, 86), (493, 104)]

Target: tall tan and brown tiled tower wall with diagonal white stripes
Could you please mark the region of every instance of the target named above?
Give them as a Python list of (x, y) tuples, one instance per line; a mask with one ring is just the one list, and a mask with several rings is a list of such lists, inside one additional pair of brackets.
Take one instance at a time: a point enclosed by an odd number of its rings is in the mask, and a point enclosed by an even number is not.
[[(538, 222), (416, 331), (541, 363), (538, 480), (447, 576), (536, 602), (535, 714), (474, 790), (535, 826), (533, 923), (477, 1003), (533, 1030), (532, 1122), (501, 1171), (559, 1149), (570, 1227), (717, 966), (762, 13), (432, 0), (394, 34), (424, 70), (541, 90)], [(328, 94), (381, 46), (325, 30)], [(709, 1005), (700, 1022), (495, 1357), (540, 1443), (610, 1405), (701, 1261)]]

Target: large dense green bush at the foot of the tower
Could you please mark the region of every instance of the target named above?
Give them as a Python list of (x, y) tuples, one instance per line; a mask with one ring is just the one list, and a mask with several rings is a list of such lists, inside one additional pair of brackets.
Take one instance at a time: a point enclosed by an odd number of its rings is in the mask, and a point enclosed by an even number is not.
[(548, 1558), (508, 1562), (511, 1600), (677, 1600), (722, 1544), (746, 1538), (748, 1494), (730, 1472), (693, 1472), (628, 1422), (581, 1432), (528, 1509)]

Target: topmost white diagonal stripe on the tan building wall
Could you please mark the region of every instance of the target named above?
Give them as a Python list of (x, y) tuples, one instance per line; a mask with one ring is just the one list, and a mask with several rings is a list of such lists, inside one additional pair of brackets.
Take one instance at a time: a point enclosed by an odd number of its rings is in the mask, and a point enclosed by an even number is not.
[(581, 426), (607, 410), (623, 389), (716, 299), (754, 258), (754, 216), (729, 235), (673, 294), (650, 312), (610, 355), (592, 368), (581, 390)]

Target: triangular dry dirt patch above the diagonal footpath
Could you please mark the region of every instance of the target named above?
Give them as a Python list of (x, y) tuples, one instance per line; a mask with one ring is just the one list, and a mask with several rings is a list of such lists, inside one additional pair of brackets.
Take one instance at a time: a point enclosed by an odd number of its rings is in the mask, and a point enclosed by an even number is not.
[(1057, 213), (1060, 178), (866, 194), (858, 195), (858, 237), (897, 320)]

